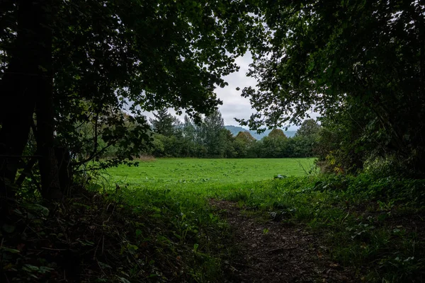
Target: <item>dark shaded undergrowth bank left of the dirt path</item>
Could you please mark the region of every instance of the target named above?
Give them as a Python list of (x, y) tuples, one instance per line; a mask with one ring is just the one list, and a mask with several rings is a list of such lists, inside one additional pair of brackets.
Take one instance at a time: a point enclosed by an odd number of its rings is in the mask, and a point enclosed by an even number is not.
[(0, 233), (0, 282), (208, 282), (225, 276), (227, 224), (167, 191), (21, 202)]

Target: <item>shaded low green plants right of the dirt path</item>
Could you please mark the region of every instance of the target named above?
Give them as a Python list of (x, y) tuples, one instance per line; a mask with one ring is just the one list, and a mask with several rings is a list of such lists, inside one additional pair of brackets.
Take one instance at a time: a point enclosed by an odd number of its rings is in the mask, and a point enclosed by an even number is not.
[(425, 180), (367, 173), (283, 178), (222, 197), (275, 221), (308, 224), (361, 282), (424, 282)]

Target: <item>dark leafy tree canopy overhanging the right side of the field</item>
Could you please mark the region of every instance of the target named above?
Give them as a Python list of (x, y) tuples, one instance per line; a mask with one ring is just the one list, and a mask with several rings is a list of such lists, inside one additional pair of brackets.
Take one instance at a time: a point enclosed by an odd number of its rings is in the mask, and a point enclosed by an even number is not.
[(424, 3), (259, 3), (266, 30), (249, 71), (258, 84), (242, 93), (257, 112), (243, 124), (299, 125), (311, 109), (336, 121), (349, 114), (374, 152), (425, 172)]

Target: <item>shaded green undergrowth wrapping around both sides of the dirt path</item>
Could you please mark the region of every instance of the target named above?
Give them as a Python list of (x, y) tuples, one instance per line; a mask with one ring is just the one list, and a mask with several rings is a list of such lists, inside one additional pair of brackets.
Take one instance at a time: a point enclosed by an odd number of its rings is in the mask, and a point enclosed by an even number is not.
[(211, 198), (307, 224), (359, 282), (425, 279), (425, 180), (363, 173), (110, 186), (94, 184), (61, 204), (16, 204), (1, 223), (0, 281), (229, 280), (237, 251)]

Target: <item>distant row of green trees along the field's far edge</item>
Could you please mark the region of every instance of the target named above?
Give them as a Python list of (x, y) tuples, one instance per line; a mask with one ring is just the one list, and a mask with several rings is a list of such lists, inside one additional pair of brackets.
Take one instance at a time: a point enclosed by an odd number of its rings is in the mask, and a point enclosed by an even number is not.
[[(315, 120), (305, 120), (295, 137), (288, 138), (282, 129), (273, 129), (267, 137), (256, 140), (249, 132), (236, 136), (225, 129), (220, 111), (215, 110), (196, 122), (187, 115), (181, 122), (166, 109), (149, 119), (152, 144), (142, 153), (156, 157), (194, 158), (286, 158), (312, 157), (317, 154), (321, 127)], [(102, 158), (114, 157), (111, 147)]]

